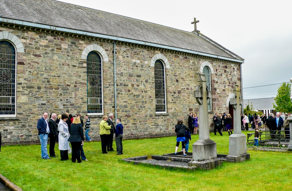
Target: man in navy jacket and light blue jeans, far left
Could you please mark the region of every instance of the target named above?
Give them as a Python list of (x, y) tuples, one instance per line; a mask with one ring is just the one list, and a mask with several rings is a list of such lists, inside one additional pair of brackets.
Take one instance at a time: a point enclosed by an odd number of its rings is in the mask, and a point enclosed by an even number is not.
[(36, 128), (39, 130), (39, 140), (41, 141), (41, 158), (51, 159), (48, 155), (47, 144), (48, 144), (48, 134), (50, 133), (49, 124), (47, 121), (48, 113), (44, 112), (43, 117), (39, 118), (37, 121)]

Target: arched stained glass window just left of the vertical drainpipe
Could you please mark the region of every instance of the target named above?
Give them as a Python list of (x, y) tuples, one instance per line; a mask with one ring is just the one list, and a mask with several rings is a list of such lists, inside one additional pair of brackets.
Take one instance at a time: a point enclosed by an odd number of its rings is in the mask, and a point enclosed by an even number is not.
[(102, 65), (98, 53), (92, 51), (87, 55), (87, 112), (102, 111)]

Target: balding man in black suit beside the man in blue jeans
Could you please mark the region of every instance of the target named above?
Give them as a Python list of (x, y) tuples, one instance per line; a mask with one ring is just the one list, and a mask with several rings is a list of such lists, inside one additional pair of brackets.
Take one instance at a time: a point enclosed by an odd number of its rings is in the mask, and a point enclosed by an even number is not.
[(58, 129), (55, 123), (55, 120), (57, 118), (57, 114), (52, 113), (51, 119), (49, 120), (48, 124), (49, 124), (49, 128), (50, 128), (50, 147), (49, 147), (49, 153), (50, 153), (50, 157), (56, 157), (57, 155), (55, 155), (55, 142), (56, 142), (56, 138), (58, 136)]

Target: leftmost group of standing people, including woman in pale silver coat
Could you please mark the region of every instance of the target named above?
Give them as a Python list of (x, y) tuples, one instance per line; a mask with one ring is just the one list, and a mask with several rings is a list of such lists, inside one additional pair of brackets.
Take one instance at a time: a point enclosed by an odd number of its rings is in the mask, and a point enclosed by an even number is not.
[[(72, 116), (72, 115), (71, 115)], [(80, 119), (81, 115), (78, 114), (77, 117), (69, 117), (69, 114), (63, 113), (58, 115), (52, 113), (50, 119), (48, 118), (48, 113), (44, 112), (43, 117), (38, 120), (37, 129), (39, 131), (39, 138), (41, 142), (41, 158), (51, 159), (50, 157), (57, 157), (55, 154), (55, 143), (59, 143), (60, 157), (61, 161), (68, 160), (68, 153), (72, 152), (72, 162), (82, 162), (88, 161), (85, 157), (83, 150), (83, 120)], [(88, 118), (88, 116), (86, 116)], [(73, 119), (73, 120), (71, 120)], [(89, 127), (87, 127), (89, 128)], [(47, 152), (48, 138), (50, 138), (49, 154)], [(72, 149), (69, 145), (71, 143)], [(80, 159), (81, 156), (81, 159)]]

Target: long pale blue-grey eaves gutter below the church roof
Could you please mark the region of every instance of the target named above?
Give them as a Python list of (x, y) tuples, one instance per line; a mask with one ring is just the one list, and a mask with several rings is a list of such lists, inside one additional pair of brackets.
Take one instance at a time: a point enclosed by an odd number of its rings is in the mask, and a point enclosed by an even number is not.
[(3, 17), (0, 17), (0, 22), (6, 22), (6, 23), (15, 24), (15, 25), (24, 25), (27, 27), (35, 27), (35, 28), (41, 28), (41, 29), (47, 29), (47, 30), (55, 30), (55, 31), (67, 32), (67, 33), (73, 33), (73, 34), (79, 34), (79, 35), (86, 35), (86, 36), (91, 36), (91, 37), (96, 37), (96, 38), (109, 39), (113, 41), (122, 41), (122, 42), (127, 42), (127, 43), (145, 45), (145, 46), (153, 46), (153, 47), (164, 48), (164, 49), (173, 50), (173, 51), (180, 51), (180, 52), (191, 53), (191, 54), (196, 54), (196, 55), (208, 56), (211, 58), (229, 60), (232, 62), (244, 63), (244, 60), (227, 58), (227, 57), (217, 56), (217, 55), (208, 54), (208, 53), (201, 53), (198, 51), (191, 51), (191, 50), (187, 50), (183, 48), (175, 48), (172, 46), (138, 41), (138, 40), (133, 40), (133, 39), (126, 39), (122, 37), (114, 37), (114, 36), (109, 36), (109, 35), (104, 35), (104, 34), (96, 34), (96, 33), (85, 32), (85, 31), (74, 30), (74, 29), (67, 29), (67, 28), (62, 28), (62, 27), (54, 27), (54, 26), (43, 25), (43, 24), (38, 24), (34, 22), (20, 21), (20, 20), (8, 19), (8, 18), (3, 18)]

